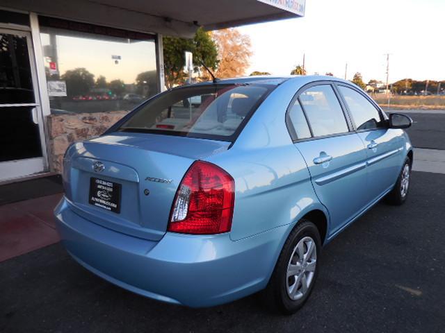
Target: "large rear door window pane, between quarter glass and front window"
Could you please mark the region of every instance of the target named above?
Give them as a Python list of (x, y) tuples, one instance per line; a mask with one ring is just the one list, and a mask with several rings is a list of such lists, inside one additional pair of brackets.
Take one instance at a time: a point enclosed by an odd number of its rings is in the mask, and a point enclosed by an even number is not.
[(348, 132), (343, 110), (330, 85), (316, 85), (300, 94), (314, 137)]

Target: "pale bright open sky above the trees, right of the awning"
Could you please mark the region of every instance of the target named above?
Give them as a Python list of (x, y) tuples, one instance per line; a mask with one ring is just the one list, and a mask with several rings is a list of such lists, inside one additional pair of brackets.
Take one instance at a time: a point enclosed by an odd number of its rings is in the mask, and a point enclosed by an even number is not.
[(252, 71), (307, 74), (365, 82), (403, 78), (445, 80), (445, 0), (306, 0), (305, 17), (239, 28), (250, 36)]

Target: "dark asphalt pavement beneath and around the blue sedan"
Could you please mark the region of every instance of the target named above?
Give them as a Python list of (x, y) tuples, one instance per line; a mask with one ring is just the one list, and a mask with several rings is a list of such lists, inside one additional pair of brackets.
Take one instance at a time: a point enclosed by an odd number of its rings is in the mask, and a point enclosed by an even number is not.
[(379, 203), (323, 250), (314, 293), (293, 316), (256, 296), (209, 309), (156, 302), (55, 244), (0, 264), (0, 332), (444, 332), (444, 196), (445, 175), (414, 172), (405, 205)]

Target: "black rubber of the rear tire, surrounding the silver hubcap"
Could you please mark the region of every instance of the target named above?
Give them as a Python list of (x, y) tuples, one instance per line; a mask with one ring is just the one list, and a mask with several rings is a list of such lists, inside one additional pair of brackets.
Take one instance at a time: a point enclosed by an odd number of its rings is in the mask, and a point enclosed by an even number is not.
[[(289, 279), (295, 279), (295, 277), (286, 278), (287, 270), (289, 263), (291, 262), (291, 255), (293, 255), (294, 248), (296, 248), (297, 244), (302, 239), (307, 239), (305, 237), (310, 237), (312, 240), (314, 240), (316, 246), (315, 270), (307, 291), (302, 293), (301, 298), (298, 300), (293, 300), (288, 294), (288, 284), (291, 283), (291, 280)], [(306, 249), (309, 250), (309, 248)], [(280, 311), (282, 314), (294, 314), (305, 304), (307, 298), (309, 298), (312, 290), (314, 289), (314, 284), (318, 276), (320, 251), (321, 239), (318, 229), (311, 221), (302, 219), (298, 222), (291, 234), (289, 234), (289, 237), (286, 239), (280, 253), (280, 257), (278, 257), (277, 264), (275, 265), (273, 274), (270, 277), (269, 283), (266, 289), (264, 289), (262, 292), (261, 296), (266, 307), (272, 311)], [(304, 275), (306, 273), (301, 274)], [(293, 284), (296, 284), (296, 280), (293, 281)]]

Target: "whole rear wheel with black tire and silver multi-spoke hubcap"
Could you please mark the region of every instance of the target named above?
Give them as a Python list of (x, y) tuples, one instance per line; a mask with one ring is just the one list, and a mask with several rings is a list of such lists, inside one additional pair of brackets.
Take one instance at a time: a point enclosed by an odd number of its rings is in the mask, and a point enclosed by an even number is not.
[[(312, 248), (311, 253), (309, 248)], [(320, 251), (318, 229), (311, 221), (300, 220), (286, 239), (269, 283), (262, 293), (266, 307), (274, 312), (294, 314), (305, 304), (318, 276)], [(293, 272), (289, 270), (291, 275), (288, 278), (288, 268), (299, 274), (292, 275)], [(306, 288), (302, 285), (304, 282)]]

